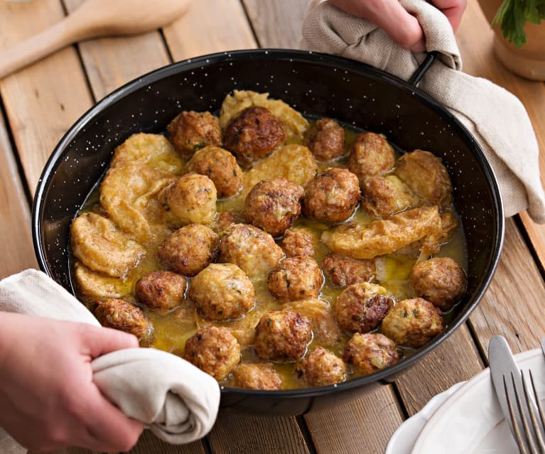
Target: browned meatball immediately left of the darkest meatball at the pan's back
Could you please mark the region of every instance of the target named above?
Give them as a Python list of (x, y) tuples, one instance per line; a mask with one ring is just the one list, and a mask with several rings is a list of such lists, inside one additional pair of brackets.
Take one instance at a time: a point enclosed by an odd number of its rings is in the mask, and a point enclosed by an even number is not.
[(188, 158), (199, 148), (222, 144), (220, 121), (210, 112), (184, 111), (168, 125), (168, 140)]

